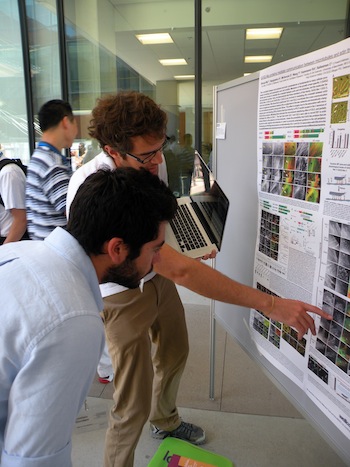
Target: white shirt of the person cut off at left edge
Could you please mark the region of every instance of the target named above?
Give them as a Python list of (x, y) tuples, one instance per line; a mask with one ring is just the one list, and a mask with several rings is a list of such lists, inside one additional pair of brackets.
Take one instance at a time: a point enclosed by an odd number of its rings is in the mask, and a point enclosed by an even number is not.
[[(0, 161), (7, 159), (0, 154)], [(25, 209), (26, 177), (16, 164), (8, 164), (0, 170), (0, 237), (7, 237), (12, 225), (11, 209)]]

